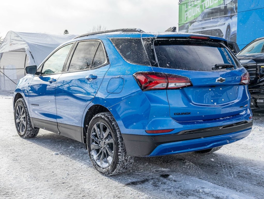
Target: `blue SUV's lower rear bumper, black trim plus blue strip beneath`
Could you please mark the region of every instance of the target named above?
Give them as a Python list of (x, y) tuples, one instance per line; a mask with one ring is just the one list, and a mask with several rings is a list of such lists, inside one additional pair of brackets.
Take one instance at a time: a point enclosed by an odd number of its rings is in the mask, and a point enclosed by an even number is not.
[(122, 134), (129, 156), (160, 156), (177, 154), (229, 144), (251, 132), (253, 121), (231, 125), (181, 131), (172, 135), (146, 136)]

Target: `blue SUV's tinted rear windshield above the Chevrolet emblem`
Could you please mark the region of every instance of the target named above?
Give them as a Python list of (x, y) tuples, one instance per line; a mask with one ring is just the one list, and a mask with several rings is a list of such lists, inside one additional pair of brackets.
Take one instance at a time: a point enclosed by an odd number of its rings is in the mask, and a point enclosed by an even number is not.
[[(155, 40), (159, 67), (191, 71), (226, 71), (239, 67), (231, 51), (213, 41)], [(233, 67), (215, 68), (216, 64)]]

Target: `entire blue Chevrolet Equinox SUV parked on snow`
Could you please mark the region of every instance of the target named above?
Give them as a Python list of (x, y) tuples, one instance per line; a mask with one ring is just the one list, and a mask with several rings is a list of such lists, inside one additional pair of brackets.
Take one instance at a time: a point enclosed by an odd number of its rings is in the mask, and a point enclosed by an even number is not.
[(213, 152), (249, 135), (249, 75), (227, 41), (118, 29), (62, 44), (14, 92), (18, 135), (39, 128), (86, 145), (114, 175), (134, 156)]

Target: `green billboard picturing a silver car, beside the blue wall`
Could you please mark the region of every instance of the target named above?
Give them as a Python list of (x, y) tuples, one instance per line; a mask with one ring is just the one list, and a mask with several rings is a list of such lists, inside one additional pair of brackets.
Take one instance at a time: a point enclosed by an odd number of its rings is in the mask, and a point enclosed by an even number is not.
[(180, 0), (179, 31), (236, 41), (237, 0)]

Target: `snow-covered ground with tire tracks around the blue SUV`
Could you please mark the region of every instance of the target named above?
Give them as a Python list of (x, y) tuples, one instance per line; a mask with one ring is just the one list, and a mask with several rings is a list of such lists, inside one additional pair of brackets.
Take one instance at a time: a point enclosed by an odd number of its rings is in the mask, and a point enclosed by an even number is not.
[(264, 198), (264, 114), (213, 154), (135, 158), (130, 172), (106, 177), (82, 143), (42, 129), (20, 138), (12, 97), (0, 105), (0, 198)]

